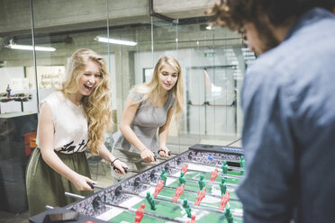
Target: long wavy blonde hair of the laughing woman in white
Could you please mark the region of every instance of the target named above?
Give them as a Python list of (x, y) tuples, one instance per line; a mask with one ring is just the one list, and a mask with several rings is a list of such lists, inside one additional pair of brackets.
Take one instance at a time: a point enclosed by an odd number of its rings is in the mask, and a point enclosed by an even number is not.
[(91, 49), (77, 49), (68, 63), (67, 78), (62, 83), (60, 91), (68, 96), (79, 89), (79, 79), (83, 75), (89, 61), (95, 62), (100, 70), (100, 80), (92, 93), (83, 96), (82, 104), (88, 122), (88, 147), (93, 155), (98, 155), (99, 145), (104, 143), (104, 132), (112, 128), (110, 75), (106, 69), (104, 58)]

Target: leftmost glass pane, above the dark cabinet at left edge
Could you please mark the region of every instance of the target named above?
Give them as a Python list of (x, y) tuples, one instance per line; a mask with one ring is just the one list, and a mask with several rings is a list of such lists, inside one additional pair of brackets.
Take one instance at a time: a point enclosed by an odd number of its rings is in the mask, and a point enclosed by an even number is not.
[[(15, 47), (24, 42), (32, 45), (32, 8), (29, 1), (22, 4), (10, 4), (0, 8), (0, 114), (9, 112), (36, 112), (36, 91), (32, 90), (29, 81), (28, 67), (34, 66), (31, 50), (20, 50)], [(7, 18), (13, 17), (13, 20)], [(22, 31), (17, 31), (17, 30)], [(8, 98), (10, 94), (31, 94), (24, 102), (19, 97)], [(23, 98), (23, 97), (22, 97)], [(27, 102), (25, 102), (27, 101)], [(5, 132), (0, 132), (0, 134)], [(3, 135), (1, 134), (1, 135)]]

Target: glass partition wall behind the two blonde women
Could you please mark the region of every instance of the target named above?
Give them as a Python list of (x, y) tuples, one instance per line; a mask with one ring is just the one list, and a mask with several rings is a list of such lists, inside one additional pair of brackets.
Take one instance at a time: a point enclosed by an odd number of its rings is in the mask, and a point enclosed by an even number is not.
[[(255, 57), (239, 34), (204, 20), (150, 15), (147, 0), (8, 2), (8, 7), (20, 3), (25, 14), (16, 16), (12, 30), (9, 24), (0, 32), (0, 92), (10, 85), (13, 92), (32, 94), (24, 112), (39, 112), (38, 103), (60, 86), (73, 51), (94, 49), (112, 75), (110, 138), (131, 86), (149, 81), (158, 58), (169, 55), (182, 67), (185, 107), (181, 119), (171, 123), (168, 147), (179, 153), (197, 143), (240, 146), (241, 84)], [(35, 50), (11, 49), (14, 44)], [(2, 113), (20, 110), (20, 104), (1, 103)]]

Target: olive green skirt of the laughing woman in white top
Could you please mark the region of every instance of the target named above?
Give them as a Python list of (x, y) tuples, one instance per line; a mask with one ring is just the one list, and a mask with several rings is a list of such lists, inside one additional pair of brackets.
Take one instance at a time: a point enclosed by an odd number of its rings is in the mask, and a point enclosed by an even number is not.
[[(78, 174), (91, 178), (85, 152), (62, 154), (56, 152), (65, 165)], [(26, 170), (26, 188), (31, 216), (45, 210), (45, 206), (64, 207), (77, 201), (64, 195), (65, 192), (89, 196), (92, 192), (77, 191), (76, 186), (67, 178), (58, 174), (41, 157), (40, 148), (36, 148)]]

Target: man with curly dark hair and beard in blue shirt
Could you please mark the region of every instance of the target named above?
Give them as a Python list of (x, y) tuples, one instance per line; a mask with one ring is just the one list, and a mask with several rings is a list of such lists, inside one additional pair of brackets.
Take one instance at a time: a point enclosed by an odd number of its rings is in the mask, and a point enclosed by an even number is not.
[(258, 54), (242, 90), (248, 222), (334, 222), (334, 0), (226, 0), (216, 23)]

